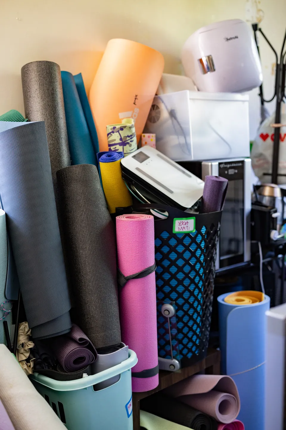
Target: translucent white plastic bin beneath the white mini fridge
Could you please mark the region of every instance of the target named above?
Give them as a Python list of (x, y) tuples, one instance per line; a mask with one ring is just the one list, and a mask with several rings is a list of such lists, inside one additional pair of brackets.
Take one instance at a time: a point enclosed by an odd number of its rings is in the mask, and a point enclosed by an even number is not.
[(145, 133), (174, 161), (250, 156), (248, 95), (178, 91), (154, 98)]

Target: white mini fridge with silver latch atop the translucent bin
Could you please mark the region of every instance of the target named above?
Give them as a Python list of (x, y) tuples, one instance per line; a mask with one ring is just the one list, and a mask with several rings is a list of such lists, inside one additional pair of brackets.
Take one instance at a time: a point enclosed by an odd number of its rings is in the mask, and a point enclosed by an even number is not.
[(262, 68), (250, 26), (229, 19), (202, 27), (185, 42), (185, 74), (199, 91), (244, 92), (262, 83)]

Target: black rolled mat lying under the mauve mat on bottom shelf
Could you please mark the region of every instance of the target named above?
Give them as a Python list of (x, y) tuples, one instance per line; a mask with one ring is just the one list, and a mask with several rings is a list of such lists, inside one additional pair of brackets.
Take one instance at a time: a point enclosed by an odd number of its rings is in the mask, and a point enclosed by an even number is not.
[(154, 394), (140, 401), (140, 408), (166, 420), (193, 430), (217, 430), (217, 421), (191, 406), (163, 394)]

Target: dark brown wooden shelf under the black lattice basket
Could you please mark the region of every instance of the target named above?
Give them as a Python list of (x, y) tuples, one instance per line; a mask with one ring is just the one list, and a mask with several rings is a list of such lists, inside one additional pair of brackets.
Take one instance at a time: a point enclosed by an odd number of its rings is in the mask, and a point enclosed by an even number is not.
[(176, 384), (176, 382), (182, 381), (202, 371), (205, 371), (207, 375), (220, 375), (220, 351), (210, 349), (205, 359), (189, 367), (184, 367), (184, 369), (180, 369), (177, 372), (160, 370), (158, 387), (154, 388), (154, 390), (145, 391), (144, 393), (132, 393), (133, 430), (140, 430), (141, 399), (151, 396), (164, 388)]

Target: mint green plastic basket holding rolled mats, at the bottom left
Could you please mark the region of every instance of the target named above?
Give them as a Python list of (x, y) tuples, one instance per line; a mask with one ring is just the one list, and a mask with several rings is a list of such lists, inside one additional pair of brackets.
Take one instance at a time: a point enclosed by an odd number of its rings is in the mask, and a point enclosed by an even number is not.
[[(96, 375), (55, 381), (35, 373), (30, 379), (68, 430), (132, 430), (131, 368), (137, 361), (129, 350), (127, 360)], [(93, 390), (93, 385), (117, 375), (115, 384)]]

